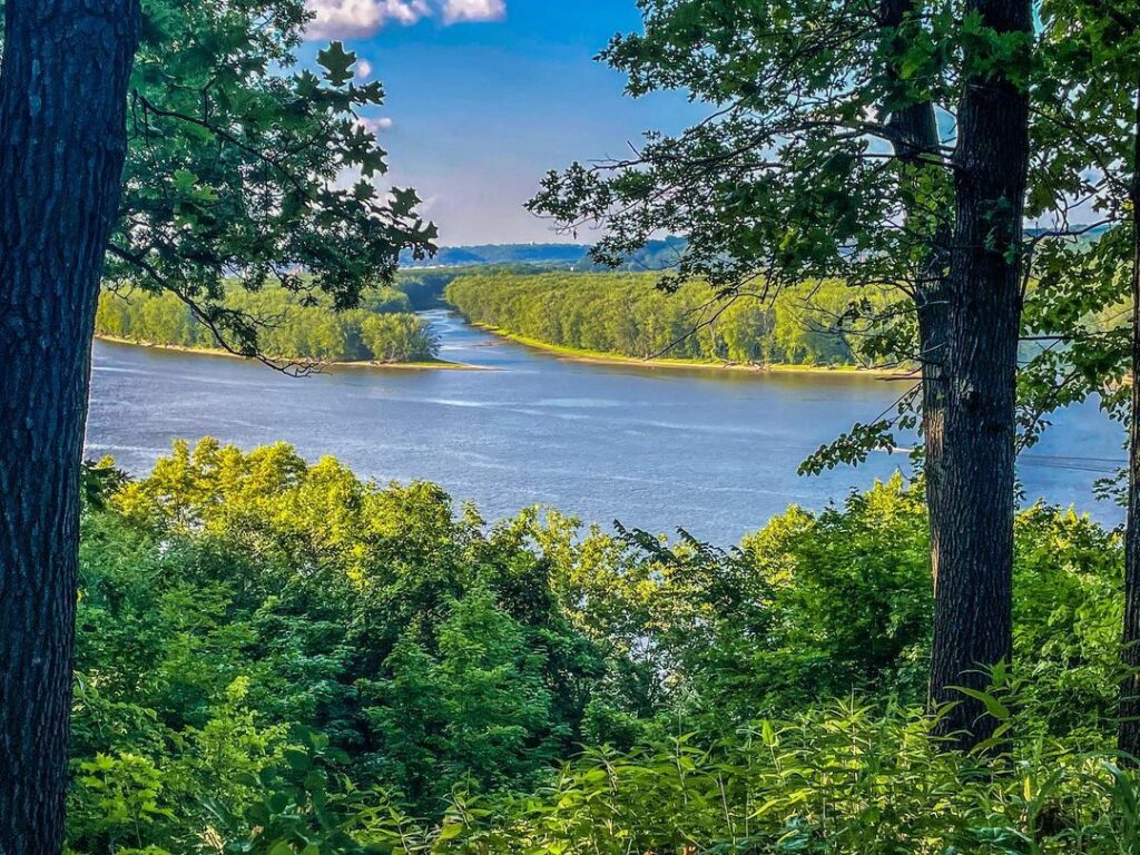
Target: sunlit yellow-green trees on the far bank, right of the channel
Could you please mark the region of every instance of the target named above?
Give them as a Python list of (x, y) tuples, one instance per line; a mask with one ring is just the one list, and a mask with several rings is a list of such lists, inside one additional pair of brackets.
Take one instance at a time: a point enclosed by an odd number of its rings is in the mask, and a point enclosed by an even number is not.
[(852, 292), (824, 283), (774, 301), (710, 302), (700, 284), (674, 294), (645, 274), (467, 275), (447, 300), (477, 324), (579, 350), (743, 364), (846, 365), (852, 349), (832, 332)]

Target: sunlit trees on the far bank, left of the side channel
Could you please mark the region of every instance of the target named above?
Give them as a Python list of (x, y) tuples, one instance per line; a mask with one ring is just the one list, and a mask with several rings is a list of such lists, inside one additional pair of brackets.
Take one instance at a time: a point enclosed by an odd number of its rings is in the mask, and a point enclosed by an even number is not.
[[(410, 314), (413, 301), (396, 288), (365, 296), (359, 309), (337, 312), (327, 304), (301, 306), (284, 288), (234, 290), (228, 308), (263, 323), (261, 351), (278, 359), (351, 363), (417, 363), (435, 358), (431, 325)], [(104, 292), (96, 315), (97, 335), (180, 348), (217, 349), (213, 333), (174, 294)]]

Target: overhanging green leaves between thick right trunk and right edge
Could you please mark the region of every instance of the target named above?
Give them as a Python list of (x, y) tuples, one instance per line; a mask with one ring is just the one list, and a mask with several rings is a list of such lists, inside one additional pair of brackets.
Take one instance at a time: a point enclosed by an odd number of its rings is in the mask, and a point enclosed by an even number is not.
[[(1060, 227), (1036, 237), (1040, 285), (1026, 328), (1041, 347), (1019, 378), (1029, 441), (1049, 414), (1092, 396), (1113, 416), (1131, 417), (1122, 381), (1132, 370), (1131, 275), (1140, 263), (1140, 11), (1121, 0), (1049, 0), (1041, 15), (1048, 50), (1034, 136), (1051, 182), (1032, 188), (1031, 213), (1047, 212), (1057, 185), (1065, 204)], [(1076, 204), (1094, 222), (1074, 230), (1097, 239), (1074, 246), (1065, 226)]]

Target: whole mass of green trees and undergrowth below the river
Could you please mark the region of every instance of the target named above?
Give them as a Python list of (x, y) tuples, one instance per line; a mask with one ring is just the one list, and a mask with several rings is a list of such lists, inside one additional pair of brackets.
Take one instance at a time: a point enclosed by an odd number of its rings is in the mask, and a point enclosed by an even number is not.
[(1132, 783), (1096, 755), (1121, 542), (1070, 512), (1018, 518), (983, 773), (922, 711), (899, 479), (731, 551), (488, 527), (283, 445), (84, 486), (74, 853), (1129, 850)]

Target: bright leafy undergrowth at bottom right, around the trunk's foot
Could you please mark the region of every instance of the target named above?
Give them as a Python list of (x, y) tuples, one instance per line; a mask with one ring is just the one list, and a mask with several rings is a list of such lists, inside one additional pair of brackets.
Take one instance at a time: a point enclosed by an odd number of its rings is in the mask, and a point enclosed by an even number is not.
[[(1009, 711), (1017, 698), (987, 700), (1007, 720), (1031, 718)], [(598, 749), (494, 822), (443, 825), (423, 850), (1107, 855), (1140, 845), (1137, 779), (1110, 755), (1037, 738), (982, 765), (939, 751), (930, 728), (913, 710), (844, 701), (712, 747), (681, 734), (632, 755)]]

